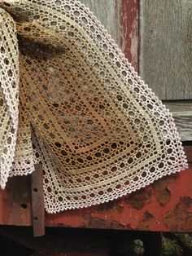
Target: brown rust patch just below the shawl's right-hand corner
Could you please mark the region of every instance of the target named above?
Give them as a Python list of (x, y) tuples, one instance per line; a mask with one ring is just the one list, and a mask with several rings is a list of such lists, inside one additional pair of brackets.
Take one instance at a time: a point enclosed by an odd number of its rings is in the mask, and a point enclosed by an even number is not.
[(178, 174), (172, 174), (171, 176), (165, 176), (164, 178), (159, 179), (152, 184), (152, 187), (155, 191), (155, 196), (160, 205), (167, 205), (168, 201), (170, 201), (172, 194), (168, 189), (168, 184), (175, 182), (177, 179)]

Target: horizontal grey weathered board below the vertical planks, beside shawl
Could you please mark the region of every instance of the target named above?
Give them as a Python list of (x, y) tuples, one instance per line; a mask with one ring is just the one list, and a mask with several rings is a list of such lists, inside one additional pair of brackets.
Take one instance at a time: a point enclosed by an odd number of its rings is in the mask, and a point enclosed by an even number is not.
[(192, 141), (192, 101), (165, 103), (172, 113), (182, 141)]

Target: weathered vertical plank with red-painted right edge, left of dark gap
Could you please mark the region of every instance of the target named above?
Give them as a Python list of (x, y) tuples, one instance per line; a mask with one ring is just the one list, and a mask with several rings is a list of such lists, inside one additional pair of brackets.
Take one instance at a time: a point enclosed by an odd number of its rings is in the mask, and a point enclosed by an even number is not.
[(138, 70), (138, 1), (81, 0), (101, 21), (135, 70)]

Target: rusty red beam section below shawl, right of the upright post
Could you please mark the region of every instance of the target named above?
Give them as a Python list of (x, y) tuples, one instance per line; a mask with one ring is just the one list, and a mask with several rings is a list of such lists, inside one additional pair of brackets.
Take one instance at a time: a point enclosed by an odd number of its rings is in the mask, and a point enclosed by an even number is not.
[(190, 202), (182, 201), (185, 207), (182, 207), (184, 211), (181, 222), (177, 220), (181, 211), (175, 210), (181, 204), (181, 198), (192, 198), (191, 179), (190, 167), (180, 174), (159, 179), (142, 192), (134, 192), (117, 201), (85, 210), (46, 215), (46, 226), (192, 232)]

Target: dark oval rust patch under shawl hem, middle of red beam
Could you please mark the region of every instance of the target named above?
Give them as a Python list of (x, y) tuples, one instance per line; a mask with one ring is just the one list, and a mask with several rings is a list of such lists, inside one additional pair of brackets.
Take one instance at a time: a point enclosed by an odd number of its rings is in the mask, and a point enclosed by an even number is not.
[(131, 193), (125, 198), (125, 201), (129, 203), (133, 208), (141, 210), (145, 205), (151, 202), (152, 190), (142, 188), (137, 192)]

